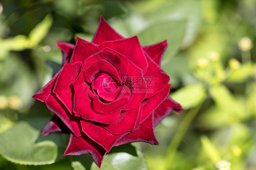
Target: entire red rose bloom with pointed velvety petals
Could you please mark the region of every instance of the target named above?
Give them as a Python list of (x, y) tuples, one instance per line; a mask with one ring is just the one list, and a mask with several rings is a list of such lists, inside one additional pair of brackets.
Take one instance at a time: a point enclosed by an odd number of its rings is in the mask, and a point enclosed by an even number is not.
[(33, 98), (54, 113), (42, 131), (70, 133), (64, 155), (89, 153), (100, 167), (113, 146), (144, 141), (158, 145), (154, 127), (182, 107), (169, 97), (160, 68), (166, 40), (142, 47), (101, 17), (92, 42), (58, 42), (61, 70)]

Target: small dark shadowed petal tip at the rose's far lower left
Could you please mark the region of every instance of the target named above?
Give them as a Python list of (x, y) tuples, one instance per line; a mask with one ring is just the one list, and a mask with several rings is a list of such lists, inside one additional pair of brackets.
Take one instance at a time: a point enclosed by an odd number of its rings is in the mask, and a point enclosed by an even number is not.
[(51, 118), (51, 121), (49, 121), (49, 123), (45, 126), (41, 135), (47, 136), (54, 132), (70, 133), (67, 126), (56, 115)]

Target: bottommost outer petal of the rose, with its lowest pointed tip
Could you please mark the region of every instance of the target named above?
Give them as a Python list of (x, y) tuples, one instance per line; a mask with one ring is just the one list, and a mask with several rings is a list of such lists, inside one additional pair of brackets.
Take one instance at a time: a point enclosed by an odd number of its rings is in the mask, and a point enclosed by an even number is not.
[(64, 155), (82, 155), (89, 153), (100, 168), (104, 155), (107, 153), (102, 146), (92, 141), (86, 135), (76, 137), (70, 134), (69, 143)]

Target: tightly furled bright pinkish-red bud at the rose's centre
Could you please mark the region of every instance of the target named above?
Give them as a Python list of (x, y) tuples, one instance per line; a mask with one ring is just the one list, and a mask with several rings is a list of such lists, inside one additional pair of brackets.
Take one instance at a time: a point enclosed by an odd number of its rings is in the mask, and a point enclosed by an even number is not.
[(113, 102), (120, 91), (119, 83), (107, 73), (100, 73), (93, 82), (94, 90), (99, 97), (108, 102)]

